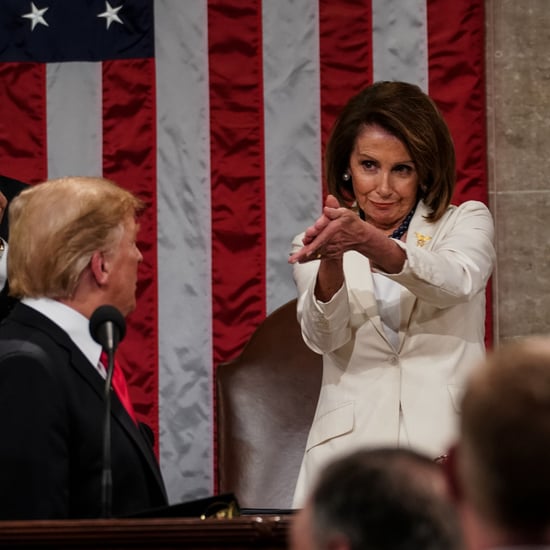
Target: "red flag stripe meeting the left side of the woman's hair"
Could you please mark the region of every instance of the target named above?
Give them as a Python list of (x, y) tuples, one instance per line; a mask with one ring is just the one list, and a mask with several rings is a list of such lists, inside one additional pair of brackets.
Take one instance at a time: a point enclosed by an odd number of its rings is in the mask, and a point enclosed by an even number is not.
[(370, 0), (319, 1), (321, 147), (348, 100), (372, 82)]

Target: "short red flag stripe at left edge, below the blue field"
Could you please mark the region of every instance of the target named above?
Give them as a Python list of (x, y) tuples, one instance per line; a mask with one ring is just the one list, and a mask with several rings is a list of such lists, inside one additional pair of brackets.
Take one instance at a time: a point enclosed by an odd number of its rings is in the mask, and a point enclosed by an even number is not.
[(0, 63), (0, 166), (28, 183), (48, 176), (46, 66)]

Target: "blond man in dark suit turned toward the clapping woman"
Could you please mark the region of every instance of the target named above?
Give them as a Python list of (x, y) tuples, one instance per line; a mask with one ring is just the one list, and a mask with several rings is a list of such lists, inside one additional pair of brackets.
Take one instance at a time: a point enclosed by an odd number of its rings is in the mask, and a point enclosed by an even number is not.
[[(8, 278), (21, 301), (0, 325), (0, 519), (102, 515), (105, 368), (89, 319), (136, 306), (142, 209), (92, 177), (37, 184), (10, 206)], [(165, 505), (152, 432), (116, 393), (111, 436), (112, 515)]]

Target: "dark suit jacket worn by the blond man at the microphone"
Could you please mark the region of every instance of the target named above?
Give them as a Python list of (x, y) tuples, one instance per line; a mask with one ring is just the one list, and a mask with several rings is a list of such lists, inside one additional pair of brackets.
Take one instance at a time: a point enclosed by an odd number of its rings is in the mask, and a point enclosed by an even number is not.
[[(18, 303), (0, 326), (0, 519), (101, 516), (104, 380)], [(151, 442), (111, 392), (112, 515), (165, 506)]]

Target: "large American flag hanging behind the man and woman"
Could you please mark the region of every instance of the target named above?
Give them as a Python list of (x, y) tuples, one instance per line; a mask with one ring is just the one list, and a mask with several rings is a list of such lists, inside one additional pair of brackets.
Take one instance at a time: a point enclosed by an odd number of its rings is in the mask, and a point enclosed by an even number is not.
[(486, 202), (481, 0), (1, 2), (0, 172), (104, 175), (150, 205), (119, 360), (172, 502), (215, 492), (215, 367), (295, 297), (328, 131), (381, 79), (436, 100), (455, 202)]

